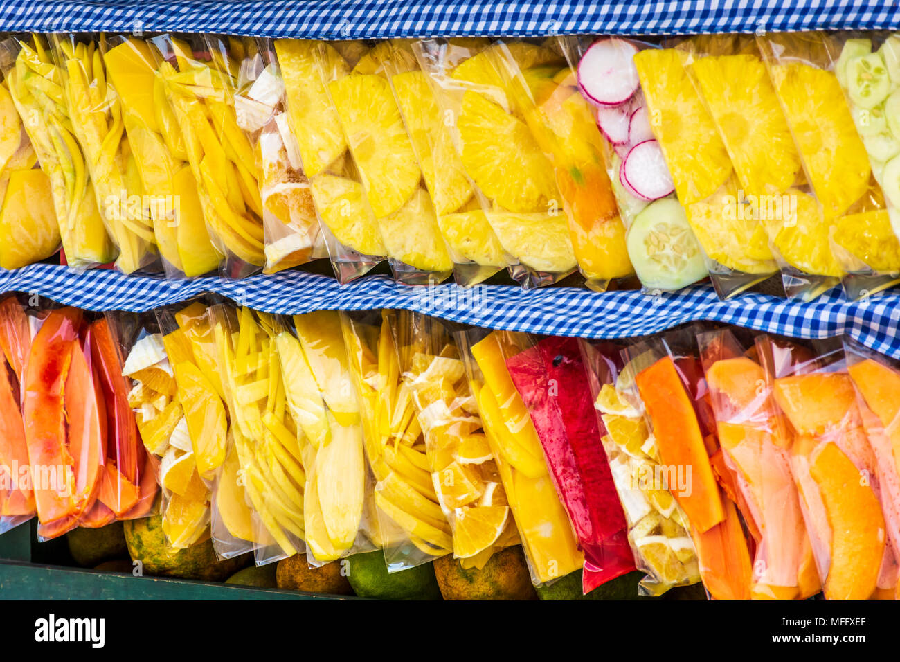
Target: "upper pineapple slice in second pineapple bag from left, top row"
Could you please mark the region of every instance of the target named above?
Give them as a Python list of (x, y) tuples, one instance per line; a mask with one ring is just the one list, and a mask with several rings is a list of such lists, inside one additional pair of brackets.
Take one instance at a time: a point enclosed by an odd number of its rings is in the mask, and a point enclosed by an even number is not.
[(347, 76), (330, 83), (329, 92), (372, 211), (378, 218), (395, 213), (422, 175), (390, 84), (380, 76)]

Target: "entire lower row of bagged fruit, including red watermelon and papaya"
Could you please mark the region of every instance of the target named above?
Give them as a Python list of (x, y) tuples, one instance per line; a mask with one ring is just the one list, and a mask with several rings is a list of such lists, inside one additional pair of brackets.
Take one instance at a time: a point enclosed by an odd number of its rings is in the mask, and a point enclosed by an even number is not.
[(171, 547), (211, 537), (258, 564), (383, 549), (392, 572), (481, 568), (521, 544), (535, 585), (637, 567), (644, 594), (896, 598), (900, 364), (849, 340), (201, 301), (0, 313), (3, 529), (158, 508)]

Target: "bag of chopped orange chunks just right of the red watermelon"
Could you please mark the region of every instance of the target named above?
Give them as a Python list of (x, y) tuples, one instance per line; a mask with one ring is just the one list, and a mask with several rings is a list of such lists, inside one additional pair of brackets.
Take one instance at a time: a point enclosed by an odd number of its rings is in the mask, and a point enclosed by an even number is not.
[[(644, 404), (632, 389), (635, 371), (622, 359), (624, 345), (580, 340), (602, 448), (625, 512), (627, 540), (642, 595), (662, 595), (700, 581), (687, 516), (672, 496), (678, 485), (654, 484), (661, 474), (656, 440), (644, 422)], [(587, 563), (585, 565), (587, 567)]]

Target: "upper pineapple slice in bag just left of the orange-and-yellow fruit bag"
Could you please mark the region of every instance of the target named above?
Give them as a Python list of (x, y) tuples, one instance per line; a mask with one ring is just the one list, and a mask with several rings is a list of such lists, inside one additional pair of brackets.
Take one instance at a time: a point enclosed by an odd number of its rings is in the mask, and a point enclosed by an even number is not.
[(525, 122), (476, 92), (463, 95), (457, 121), (466, 172), (509, 212), (546, 212), (560, 203), (553, 168)]

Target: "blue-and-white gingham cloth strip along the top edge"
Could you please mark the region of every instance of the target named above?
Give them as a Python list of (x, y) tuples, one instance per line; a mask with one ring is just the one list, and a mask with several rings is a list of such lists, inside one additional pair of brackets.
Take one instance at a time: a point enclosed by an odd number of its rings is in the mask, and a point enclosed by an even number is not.
[(374, 39), (897, 29), (896, 0), (4, 0), (0, 32)]

